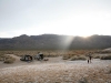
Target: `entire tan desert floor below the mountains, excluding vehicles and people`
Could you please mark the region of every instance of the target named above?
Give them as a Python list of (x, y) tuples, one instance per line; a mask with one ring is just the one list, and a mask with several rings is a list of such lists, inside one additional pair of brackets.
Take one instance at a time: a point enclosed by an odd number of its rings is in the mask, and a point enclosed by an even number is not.
[[(34, 56), (39, 51), (0, 51), (13, 58), (12, 63), (0, 61), (0, 83), (110, 83), (111, 56), (109, 51), (41, 51), (44, 60), (21, 61), (24, 54)], [(93, 53), (92, 63), (85, 53)], [(29, 56), (28, 55), (28, 56)], [(46, 59), (48, 59), (46, 61)]]

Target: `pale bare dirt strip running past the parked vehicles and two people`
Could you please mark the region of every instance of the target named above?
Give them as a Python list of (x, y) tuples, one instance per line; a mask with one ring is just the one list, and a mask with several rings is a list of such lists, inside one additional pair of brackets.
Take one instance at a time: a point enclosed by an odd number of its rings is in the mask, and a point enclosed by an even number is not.
[[(32, 65), (32, 64), (49, 64), (49, 63), (65, 63), (65, 64), (88, 64), (87, 60), (85, 61), (69, 61), (69, 60), (62, 60), (62, 56), (57, 56), (57, 58), (44, 58), (48, 59), (48, 61), (38, 61), (38, 60), (33, 60), (32, 62), (24, 62), (24, 61), (20, 61), (20, 56), (17, 56), (14, 54), (7, 54), (10, 55), (12, 58), (16, 59), (14, 63), (11, 64), (7, 64), (3, 62), (0, 62), (0, 69), (3, 68), (11, 68), (11, 66), (20, 66), (20, 65)], [(107, 65), (107, 64), (111, 64), (111, 60), (100, 60), (100, 59), (93, 59), (91, 65)]]

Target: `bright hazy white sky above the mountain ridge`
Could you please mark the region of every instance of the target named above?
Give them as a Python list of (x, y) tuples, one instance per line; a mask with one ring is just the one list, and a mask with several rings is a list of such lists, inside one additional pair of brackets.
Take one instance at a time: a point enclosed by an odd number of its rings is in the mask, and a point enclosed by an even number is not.
[(0, 38), (111, 35), (111, 0), (0, 0)]

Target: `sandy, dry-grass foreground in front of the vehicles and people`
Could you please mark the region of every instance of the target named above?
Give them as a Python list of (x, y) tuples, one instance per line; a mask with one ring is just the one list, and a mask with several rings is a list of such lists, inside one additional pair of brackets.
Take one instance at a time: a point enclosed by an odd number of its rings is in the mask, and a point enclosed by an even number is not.
[[(14, 55), (12, 55), (14, 56)], [(111, 61), (49, 61), (0, 63), (0, 83), (111, 83)]]

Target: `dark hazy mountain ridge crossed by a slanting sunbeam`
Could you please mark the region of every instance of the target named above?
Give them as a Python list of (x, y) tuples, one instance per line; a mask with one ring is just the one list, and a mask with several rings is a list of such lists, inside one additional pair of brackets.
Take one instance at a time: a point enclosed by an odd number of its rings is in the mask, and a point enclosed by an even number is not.
[(42, 34), (42, 35), (20, 35), (12, 39), (0, 38), (0, 50), (8, 49), (105, 49), (111, 48), (110, 35), (91, 35), (89, 38)]

